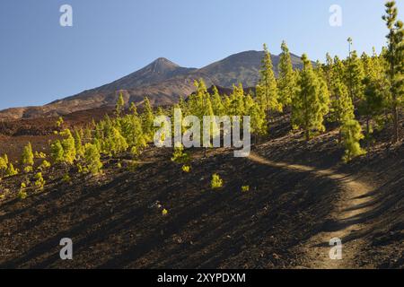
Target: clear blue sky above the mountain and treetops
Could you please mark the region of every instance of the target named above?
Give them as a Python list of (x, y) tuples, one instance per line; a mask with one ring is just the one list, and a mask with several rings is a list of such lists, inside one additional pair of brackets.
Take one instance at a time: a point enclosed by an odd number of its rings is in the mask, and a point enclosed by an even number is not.
[[(400, 18), (404, 1), (399, 0)], [(313, 60), (380, 50), (382, 0), (1, 0), (0, 109), (41, 105), (110, 83), (156, 57), (201, 67), (233, 53), (274, 54), (283, 39)], [(74, 26), (59, 25), (71, 4)], [(329, 6), (343, 25), (329, 26)]]

